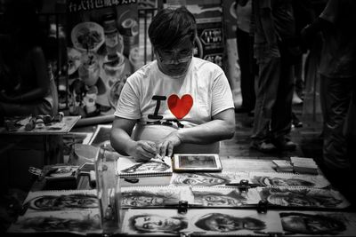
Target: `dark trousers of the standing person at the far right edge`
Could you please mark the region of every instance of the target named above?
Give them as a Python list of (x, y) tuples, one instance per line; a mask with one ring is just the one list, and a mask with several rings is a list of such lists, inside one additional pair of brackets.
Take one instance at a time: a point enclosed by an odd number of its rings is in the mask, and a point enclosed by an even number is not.
[[(354, 180), (355, 167), (352, 170), (350, 154), (355, 149), (355, 140), (352, 140), (352, 127), (355, 128), (352, 103), (355, 103), (356, 78), (329, 78), (320, 75), (324, 83), (325, 127), (323, 139), (323, 163), (321, 170), (324, 172), (332, 186), (339, 189), (348, 199), (353, 199), (355, 194), (350, 188), (350, 181)], [(351, 121), (353, 118), (353, 121)], [(355, 129), (354, 129), (355, 130)], [(355, 132), (355, 131), (353, 131)], [(352, 147), (352, 148), (351, 148)]]

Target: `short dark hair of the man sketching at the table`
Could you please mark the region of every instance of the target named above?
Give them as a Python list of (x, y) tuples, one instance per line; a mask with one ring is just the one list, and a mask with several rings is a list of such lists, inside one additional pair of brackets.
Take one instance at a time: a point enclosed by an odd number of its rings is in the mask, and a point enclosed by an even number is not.
[(195, 18), (184, 6), (175, 10), (163, 9), (156, 14), (150, 23), (150, 43), (155, 49), (169, 50), (187, 37), (193, 43), (196, 32)]

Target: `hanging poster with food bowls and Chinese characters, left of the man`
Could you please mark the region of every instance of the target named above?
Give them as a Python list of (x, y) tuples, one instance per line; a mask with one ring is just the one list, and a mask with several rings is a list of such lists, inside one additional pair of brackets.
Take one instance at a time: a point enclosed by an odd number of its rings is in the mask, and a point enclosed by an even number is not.
[(68, 0), (69, 113), (111, 115), (138, 61), (135, 0)]

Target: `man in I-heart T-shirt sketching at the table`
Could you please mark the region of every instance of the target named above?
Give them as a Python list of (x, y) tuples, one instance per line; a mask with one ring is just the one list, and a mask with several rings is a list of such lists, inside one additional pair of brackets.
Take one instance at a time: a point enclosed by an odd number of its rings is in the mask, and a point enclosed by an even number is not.
[(235, 131), (223, 69), (193, 57), (197, 24), (185, 8), (164, 9), (150, 23), (157, 60), (131, 75), (117, 102), (111, 145), (147, 161), (173, 153), (219, 153)]

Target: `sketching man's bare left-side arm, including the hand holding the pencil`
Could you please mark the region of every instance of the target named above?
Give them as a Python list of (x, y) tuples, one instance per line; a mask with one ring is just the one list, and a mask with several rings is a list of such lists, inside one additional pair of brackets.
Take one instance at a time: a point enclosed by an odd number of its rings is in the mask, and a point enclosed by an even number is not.
[(134, 130), (135, 120), (115, 117), (112, 123), (110, 142), (119, 154), (128, 154), (137, 161), (148, 161), (156, 155), (156, 144), (152, 141), (134, 141), (130, 135)]

